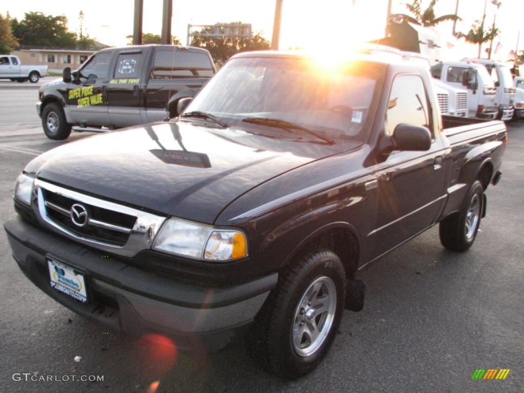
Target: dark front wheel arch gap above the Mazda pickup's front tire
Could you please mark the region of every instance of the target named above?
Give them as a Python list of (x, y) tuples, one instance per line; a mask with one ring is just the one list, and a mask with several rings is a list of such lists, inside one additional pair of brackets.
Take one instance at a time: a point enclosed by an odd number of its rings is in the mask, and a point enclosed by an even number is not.
[(287, 266), (298, 255), (316, 248), (327, 248), (339, 256), (346, 277), (355, 278), (361, 252), (360, 237), (355, 227), (346, 222), (333, 222), (316, 228), (292, 250), (285, 259)]

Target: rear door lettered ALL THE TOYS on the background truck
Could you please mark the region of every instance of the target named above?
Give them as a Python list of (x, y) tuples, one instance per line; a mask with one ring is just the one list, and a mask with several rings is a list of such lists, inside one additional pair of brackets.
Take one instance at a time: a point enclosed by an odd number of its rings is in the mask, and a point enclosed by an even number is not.
[(109, 118), (115, 126), (127, 127), (141, 123), (140, 108), (143, 106), (145, 86), (141, 76), (145, 53), (145, 49), (124, 49), (117, 54), (107, 85)]

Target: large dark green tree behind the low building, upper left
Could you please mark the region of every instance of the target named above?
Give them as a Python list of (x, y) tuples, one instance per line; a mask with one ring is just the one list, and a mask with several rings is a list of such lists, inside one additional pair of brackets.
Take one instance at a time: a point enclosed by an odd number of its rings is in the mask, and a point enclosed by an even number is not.
[(24, 19), (12, 24), (13, 34), (21, 45), (47, 46), (74, 49), (77, 35), (67, 28), (64, 15), (43, 15), (29, 12)]

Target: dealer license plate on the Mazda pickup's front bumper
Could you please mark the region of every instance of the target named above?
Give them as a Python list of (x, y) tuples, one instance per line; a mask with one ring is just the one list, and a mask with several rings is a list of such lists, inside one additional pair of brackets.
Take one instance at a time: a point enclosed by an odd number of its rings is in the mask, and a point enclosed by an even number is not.
[(51, 288), (71, 296), (81, 302), (88, 301), (83, 274), (58, 260), (47, 258)]

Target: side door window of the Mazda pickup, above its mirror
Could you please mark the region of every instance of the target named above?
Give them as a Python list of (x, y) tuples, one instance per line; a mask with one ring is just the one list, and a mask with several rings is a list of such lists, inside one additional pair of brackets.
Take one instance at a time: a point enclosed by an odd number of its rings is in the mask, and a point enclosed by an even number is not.
[(423, 126), (433, 131), (430, 126), (428, 97), (424, 83), (418, 75), (399, 75), (393, 81), (386, 111), (386, 133), (393, 135), (400, 123)]

